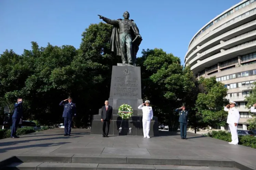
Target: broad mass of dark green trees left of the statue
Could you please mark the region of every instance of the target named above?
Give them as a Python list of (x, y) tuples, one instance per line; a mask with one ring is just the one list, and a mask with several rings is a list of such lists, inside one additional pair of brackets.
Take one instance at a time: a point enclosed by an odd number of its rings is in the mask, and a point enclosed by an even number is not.
[(17, 55), (6, 50), (0, 58), (0, 96), (10, 108), (16, 96), (24, 98), (25, 119), (41, 124), (61, 121), (61, 100), (71, 95), (77, 104), (78, 123), (88, 123), (91, 114), (109, 97), (112, 65), (120, 57), (110, 50), (112, 26), (92, 24), (82, 34), (80, 49), (48, 44)]

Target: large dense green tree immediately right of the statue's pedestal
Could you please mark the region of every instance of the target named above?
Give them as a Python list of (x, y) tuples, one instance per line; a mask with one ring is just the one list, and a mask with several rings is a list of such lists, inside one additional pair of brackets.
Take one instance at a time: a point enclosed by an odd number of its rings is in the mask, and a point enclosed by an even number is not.
[(157, 48), (143, 50), (138, 65), (143, 99), (151, 101), (160, 123), (168, 124), (170, 131), (176, 130), (179, 115), (174, 110), (182, 104), (193, 105), (190, 97), (195, 90), (195, 78), (190, 68), (184, 68), (178, 57)]

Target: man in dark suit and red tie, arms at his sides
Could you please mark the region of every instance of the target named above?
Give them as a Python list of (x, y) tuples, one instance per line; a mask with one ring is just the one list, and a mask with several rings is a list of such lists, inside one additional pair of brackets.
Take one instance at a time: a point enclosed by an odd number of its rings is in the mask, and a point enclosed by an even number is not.
[(101, 122), (103, 122), (103, 137), (108, 137), (109, 135), (109, 125), (112, 120), (113, 108), (109, 106), (109, 101), (105, 101), (105, 106), (101, 108)]

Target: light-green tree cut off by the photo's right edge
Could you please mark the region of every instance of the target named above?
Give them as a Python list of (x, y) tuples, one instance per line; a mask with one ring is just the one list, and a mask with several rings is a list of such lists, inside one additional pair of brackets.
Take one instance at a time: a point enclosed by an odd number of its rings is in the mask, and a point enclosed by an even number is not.
[[(253, 106), (256, 103), (256, 82), (254, 82), (254, 87), (252, 89), (251, 94), (245, 97), (245, 101), (248, 101), (248, 103), (246, 105), (246, 107), (248, 109), (250, 109), (251, 106)], [(256, 114), (251, 113), (251, 115), (252, 115), (252, 119), (249, 119), (246, 122), (246, 123), (249, 124), (249, 126), (247, 128), (250, 129), (250, 130), (254, 129), (256, 127)]]

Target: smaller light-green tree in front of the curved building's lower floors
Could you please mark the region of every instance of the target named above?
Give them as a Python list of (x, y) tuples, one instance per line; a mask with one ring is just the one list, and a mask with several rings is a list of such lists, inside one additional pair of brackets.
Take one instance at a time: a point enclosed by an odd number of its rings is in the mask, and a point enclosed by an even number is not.
[(228, 104), (225, 96), (227, 88), (224, 84), (216, 81), (216, 77), (199, 79), (199, 93), (196, 100), (197, 125), (206, 126), (226, 125), (227, 113), (223, 107)]

